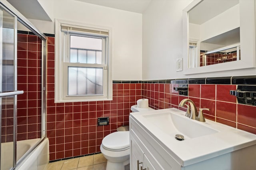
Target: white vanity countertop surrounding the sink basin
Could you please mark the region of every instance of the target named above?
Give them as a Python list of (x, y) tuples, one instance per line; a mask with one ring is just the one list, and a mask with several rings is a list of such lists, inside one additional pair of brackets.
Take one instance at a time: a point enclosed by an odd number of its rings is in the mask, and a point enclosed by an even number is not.
[[(184, 111), (175, 108), (133, 112), (130, 113), (130, 116), (154, 137), (154, 139), (182, 166), (201, 162), (256, 144), (256, 135), (208, 119), (206, 119), (206, 122), (190, 120), (215, 129), (218, 131), (217, 133), (178, 141), (173, 135), (167, 134), (143, 117), (143, 115), (165, 112), (173, 112), (173, 114), (185, 117)], [(188, 117), (185, 118), (189, 119)], [(184, 124), (184, 126), (186, 126), (186, 124)]]

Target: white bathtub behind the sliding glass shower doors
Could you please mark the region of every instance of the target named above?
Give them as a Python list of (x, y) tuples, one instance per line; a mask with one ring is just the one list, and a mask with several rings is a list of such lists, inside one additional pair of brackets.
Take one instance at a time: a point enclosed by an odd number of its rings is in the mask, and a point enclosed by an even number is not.
[[(41, 141), (41, 143), (32, 150), (40, 139), (29, 139), (24, 141), (17, 141), (17, 166), (18, 170), (44, 170), (49, 162), (49, 140), (48, 138)], [(28, 156), (21, 162), (20, 158), (26, 153), (30, 152)], [(1, 170), (10, 170), (10, 165), (13, 162), (13, 143), (1, 143)]]

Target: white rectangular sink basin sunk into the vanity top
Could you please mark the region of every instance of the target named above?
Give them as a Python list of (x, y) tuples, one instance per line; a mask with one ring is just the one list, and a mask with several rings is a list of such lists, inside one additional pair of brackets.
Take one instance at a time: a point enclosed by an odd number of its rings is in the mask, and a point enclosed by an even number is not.
[(161, 129), (164, 133), (172, 136), (181, 134), (185, 137), (185, 140), (218, 132), (215, 129), (202, 125), (200, 122), (173, 112), (142, 115), (142, 117)]

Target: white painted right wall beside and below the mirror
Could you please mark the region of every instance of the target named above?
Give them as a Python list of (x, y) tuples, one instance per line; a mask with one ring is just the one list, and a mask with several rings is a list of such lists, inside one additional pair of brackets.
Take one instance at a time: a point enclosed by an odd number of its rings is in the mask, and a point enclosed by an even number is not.
[[(182, 53), (186, 50), (182, 47), (182, 10), (191, 2), (192, 0), (152, 1), (144, 12), (142, 16), (142, 79), (255, 75), (256, 68), (190, 75), (184, 75), (184, 71), (176, 72), (176, 59), (183, 58)], [(184, 61), (187, 60), (184, 59)]]

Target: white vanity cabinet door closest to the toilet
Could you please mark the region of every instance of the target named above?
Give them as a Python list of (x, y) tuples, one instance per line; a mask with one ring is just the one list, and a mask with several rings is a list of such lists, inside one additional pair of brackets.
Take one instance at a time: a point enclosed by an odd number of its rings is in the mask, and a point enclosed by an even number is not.
[(144, 153), (142, 152), (138, 143), (136, 143), (136, 141), (133, 139), (131, 135), (130, 146), (130, 170), (139, 170), (137, 161), (139, 161), (139, 166), (141, 166), (143, 162)]

